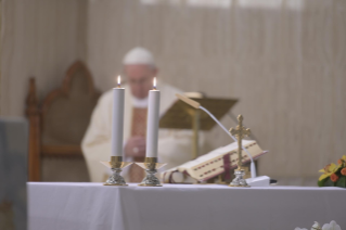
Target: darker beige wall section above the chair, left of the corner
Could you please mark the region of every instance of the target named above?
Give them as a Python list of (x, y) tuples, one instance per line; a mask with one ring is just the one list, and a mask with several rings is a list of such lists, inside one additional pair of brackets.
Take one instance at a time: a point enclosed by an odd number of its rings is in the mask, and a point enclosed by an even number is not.
[(42, 98), (68, 65), (86, 59), (87, 7), (87, 0), (2, 0), (0, 115), (23, 115), (30, 76)]

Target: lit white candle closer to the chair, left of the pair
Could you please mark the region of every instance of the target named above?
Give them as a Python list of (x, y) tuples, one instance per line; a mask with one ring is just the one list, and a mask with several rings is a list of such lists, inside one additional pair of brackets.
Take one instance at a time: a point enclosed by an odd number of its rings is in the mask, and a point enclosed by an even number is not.
[(113, 88), (112, 156), (123, 156), (125, 89), (120, 86), (120, 76), (117, 85)]

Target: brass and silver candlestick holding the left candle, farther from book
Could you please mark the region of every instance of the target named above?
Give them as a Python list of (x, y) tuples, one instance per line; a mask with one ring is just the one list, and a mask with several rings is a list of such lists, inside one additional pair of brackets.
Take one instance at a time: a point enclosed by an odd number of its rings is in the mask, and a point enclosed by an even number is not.
[(132, 162), (123, 162), (123, 156), (111, 156), (111, 162), (101, 163), (113, 171), (103, 186), (128, 186), (120, 173), (123, 168), (133, 164)]

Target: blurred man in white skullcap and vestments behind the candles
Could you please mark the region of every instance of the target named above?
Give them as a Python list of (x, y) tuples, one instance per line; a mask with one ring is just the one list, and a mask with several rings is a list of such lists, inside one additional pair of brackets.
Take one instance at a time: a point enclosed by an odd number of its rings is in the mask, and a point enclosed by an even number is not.
[[(143, 162), (145, 157), (146, 107), (149, 90), (158, 69), (153, 55), (143, 48), (129, 51), (123, 61), (128, 85), (125, 85), (124, 154), (127, 161)], [(163, 115), (177, 100), (181, 90), (157, 79), (161, 90), (159, 113)], [(100, 161), (111, 155), (112, 90), (103, 93), (93, 111), (91, 123), (82, 140), (82, 152), (89, 168), (90, 179), (101, 182), (105, 179), (105, 167)], [(159, 129), (158, 159), (168, 163), (166, 169), (191, 159), (192, 132), (190, 130)], [(127, 182), (140, 182), (144, 171), (131, 165), (124, 176)]]

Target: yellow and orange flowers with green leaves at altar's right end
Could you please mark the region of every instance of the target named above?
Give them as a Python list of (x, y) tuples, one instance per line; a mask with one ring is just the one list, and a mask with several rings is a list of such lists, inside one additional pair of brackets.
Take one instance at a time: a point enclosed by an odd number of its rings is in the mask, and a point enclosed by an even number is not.
[(329, 164), (319, 171), (323, 173), (318, 181), (319, 187), (346, 188), (346, 155), (337, 161), (337, 165)]

